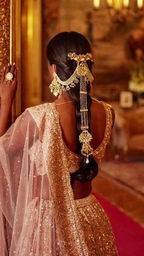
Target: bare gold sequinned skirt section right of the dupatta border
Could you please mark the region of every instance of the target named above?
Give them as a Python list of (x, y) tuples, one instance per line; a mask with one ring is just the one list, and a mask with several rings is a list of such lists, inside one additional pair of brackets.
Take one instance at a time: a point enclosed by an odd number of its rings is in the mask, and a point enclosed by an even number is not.
[(109, 219), (95, 196), (75, 200), (90, 256), (118, 255)]

